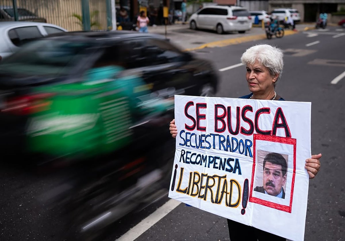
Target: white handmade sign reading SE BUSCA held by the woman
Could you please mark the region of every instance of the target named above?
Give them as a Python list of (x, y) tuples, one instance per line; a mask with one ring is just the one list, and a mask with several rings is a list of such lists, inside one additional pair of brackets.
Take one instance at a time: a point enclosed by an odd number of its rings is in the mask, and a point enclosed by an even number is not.
[(311, 103), (175, 95), (175, 123), (170, 198), (304, 239)]

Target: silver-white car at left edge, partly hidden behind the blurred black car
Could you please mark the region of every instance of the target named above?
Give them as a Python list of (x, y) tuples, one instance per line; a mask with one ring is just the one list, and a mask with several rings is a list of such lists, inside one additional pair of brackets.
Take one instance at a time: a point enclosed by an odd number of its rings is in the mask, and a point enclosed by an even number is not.
[(20, 49), (24, 43), (53, 33), (67, 32), (57, 25), (39, 22), (0, 22), (0, 60)]

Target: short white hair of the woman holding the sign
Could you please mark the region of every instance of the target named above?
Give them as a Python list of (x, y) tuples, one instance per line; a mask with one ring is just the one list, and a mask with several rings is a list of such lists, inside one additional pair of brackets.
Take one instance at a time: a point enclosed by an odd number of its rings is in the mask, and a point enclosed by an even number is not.
[(256, 61), (259, 64), (266, 66), (271, 76), (278, 74), (278, 78), (274, 85), (280, 79), (283, 73), (284, 61), (283, 51), (277, 47), (269, 44), (258, 44), (247, 49), (241, 57), (241, 62), (244, 65), (254, 64)]

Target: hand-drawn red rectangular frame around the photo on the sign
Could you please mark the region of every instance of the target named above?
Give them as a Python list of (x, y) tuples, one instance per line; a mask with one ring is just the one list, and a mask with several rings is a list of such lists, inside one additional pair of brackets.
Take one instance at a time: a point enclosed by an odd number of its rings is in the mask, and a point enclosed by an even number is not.
[[(256, 141), (257, 140), (265, 140), (267, 142), (288, 144), (288, 145), (293, 145), (293, 147), (294, 147), (293, 173), (292, 173), (289, 206), (277, 204), (274, 202), (270, 202), (270, 201), (263, 200), (263, 199), (256, 198), (256, 197), (252, 196), (253, 185), (254, 185), (255, 165), (256, 165)], [(295, 186), (295, 174), (296, 174), (296, 139), (287, 138), (287, 137), (280, 137), (280, 136), (267, 136), (267, 135), (260, 135), (260, 134), (254, 134), (253, 135), (253, 170), (252, 170), (252, 182), (250, 184), (250, 191), (249, 191), (249, 202), (254, 202), (254, 203), (266, 206), (266, 207), (270, 207), (270, 208), (274, 208), (274, 209), (277, 209), (280, 211), (291, 213), (292, 199), (293, 199), (293, 195), (294, 195), (294, 186)]]

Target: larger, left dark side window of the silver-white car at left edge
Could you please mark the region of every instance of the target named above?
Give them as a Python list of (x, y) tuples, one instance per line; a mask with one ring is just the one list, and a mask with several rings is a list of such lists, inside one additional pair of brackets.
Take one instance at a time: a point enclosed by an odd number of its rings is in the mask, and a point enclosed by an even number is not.
[(32, 39), (43, 36), (36, 26), (11, 29), (8, 35), (12, 43), (18, 47)]

